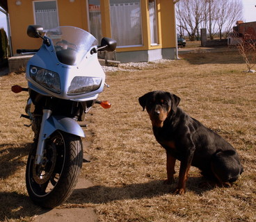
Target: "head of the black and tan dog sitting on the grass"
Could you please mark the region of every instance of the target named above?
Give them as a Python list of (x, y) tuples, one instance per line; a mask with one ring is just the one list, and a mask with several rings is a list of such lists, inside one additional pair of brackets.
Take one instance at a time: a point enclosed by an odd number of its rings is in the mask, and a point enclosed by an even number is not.
[(141, 96), (138, 102), (147, 110), (152, 121), (152, 126), (162, 127), (163, 122), (169, 114), (174, 114), (177, 111), (180, 98), (175, 94), (163, 91), (153, 91)]

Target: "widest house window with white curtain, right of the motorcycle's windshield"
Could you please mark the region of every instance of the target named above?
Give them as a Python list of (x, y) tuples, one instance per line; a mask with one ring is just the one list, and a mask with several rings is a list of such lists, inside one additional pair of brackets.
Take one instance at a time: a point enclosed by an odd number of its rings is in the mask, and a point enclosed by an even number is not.
[(118, 46), (142, 45), (140, 0), (110, 0), (111, 33)]

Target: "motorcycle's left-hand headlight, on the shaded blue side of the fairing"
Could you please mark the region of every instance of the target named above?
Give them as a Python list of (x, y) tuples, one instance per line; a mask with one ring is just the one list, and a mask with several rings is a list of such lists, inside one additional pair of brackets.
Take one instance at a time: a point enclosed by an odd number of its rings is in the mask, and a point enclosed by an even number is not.
[(51, 90), (52, 92), (61, 93), (61, 80), (60, 76), (58, 76), (56, 72), (31, 66), (29, 74), (35, 82), (39, 83), (43, 87)]

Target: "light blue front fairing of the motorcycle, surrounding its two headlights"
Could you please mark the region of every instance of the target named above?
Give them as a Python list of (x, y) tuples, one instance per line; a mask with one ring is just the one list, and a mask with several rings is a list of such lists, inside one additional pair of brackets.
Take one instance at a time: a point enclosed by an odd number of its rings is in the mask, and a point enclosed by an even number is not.
[[(95, 39), (92, 35), (90, 35), (90, 33), (87, 33), (86, 31), (84, 32), (86, 33), (85, 37)], [(99, 60), (97, 59), (97, 53), (90, 53), (90, 51), (95, 48), (95, 46), (90, 46), (90, 48), (83, 50), (83, 53), (81, 54), (84, 56), (80, 56), (78, 51), (77, 58), (80, 59), (77, 59), (77, 62), (74, 62), (74, 65), (68, 65), (58, 60), (56, 56), (54, 38), (49, 38), (48, 40), (51, 44), (49, 44), (49, 46), (47, 44), (42, 44), (40, 50), (35, 54), (35, 56), (33, 56), (33, 58), (29, 60), (26, 66), (26, 79), (29, 82), (29, 88), (45, 96), (54, 96), (59, 99), (67, 99), (72, 101), (89, 101), (97, 98), (98, 94), (103, 91), (105, 74), (101, 65), (99, 64)], [(30, 67), (33, 66), (57, 73), (61, 82), (61, 91), (58, 93), (53, 92), (50, 89), (47, 89), (47, 87), (44, 87), (33, 80), (29, 74)], [(72, 83), (72, 80), (78, 76), (102, 78), (102, 82), (99, 88), (92, 92), (85, 92), (82, 94), (74, 95), (68, 94), (67, 92)]]

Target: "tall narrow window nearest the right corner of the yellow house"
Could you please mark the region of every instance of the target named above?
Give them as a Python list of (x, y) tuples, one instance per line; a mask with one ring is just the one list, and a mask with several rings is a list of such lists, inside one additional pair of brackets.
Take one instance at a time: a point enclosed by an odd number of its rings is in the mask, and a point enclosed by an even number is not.
[(150, 13), (150, 37), (151, 45), (158, 44), (157, 39), (157, 10), (156, 10), (156, 0), (148, 1), (148, 9)]

